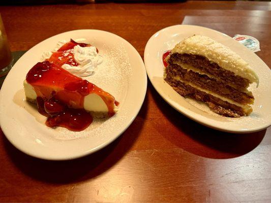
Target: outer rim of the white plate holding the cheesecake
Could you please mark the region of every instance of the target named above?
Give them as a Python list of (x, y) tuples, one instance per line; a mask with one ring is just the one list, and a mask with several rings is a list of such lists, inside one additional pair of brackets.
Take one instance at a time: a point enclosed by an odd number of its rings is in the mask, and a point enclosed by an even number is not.
[[(3, 126), (2, 120), (4, 120), (5, 118), (3, 118), (3, 117), (1, 116), (1, 114), (2, 114), (2, 108), (0, 108), (0, 127), (1, 127), (1, 129), (2, 129), (2, 131), (3, 131), (3, 134), (5, 135), (5, 137), (7, 138), (7, 140), (8, 140), (15, 148), (17, 148), (18, 150), (20, 150), (21, 152), (23, 152), (23, 153), (25, 153), (25, 154), (27, 154), (27, 155), (29, 155), (29, 156), (36, 157), (36, 158), (40, 158), (40, 159), (45, 159), (45, 160), (55, 160), (55, 161), (58, 161), (58, 160), (71, 160), (71, 159), (77, 159), (77, 158), (80, 158), (80, 157), (87, 156), (87, 155), (89, 155), (89, 154), (93, 154), (93, 153), (95, 153), (95, 152), (97, 152), (97, 151), (99, 151), (99, 150), (105, 148), (106, 146), (108, 146), (109, 144), (111, 144), (112, 142), (114, 142), (117, 138), (119, 138), (119, 137), (127, 130), (127, 128), (132, 124), (132, 122), (135, 120), (135, 118), (137, 117), (137, 115), (138, 115), (139, 111), (141, 110), (142, 105), (143, 105), (143, 103), (144, 103), (144, 99), (145, 99), (145, 96), (146, 96), (146, 90), (147, 90), (147, 74), (146, 74), (146, 69), (145, 69), (145, 64), (144, 64), (144, 62), (143, 62), (143, 59), (142, 59), (142, 57), (140, 56), (139, 52), (136, 50), (136, 48), (135, 48), (130, 42), (128, 42), (126, 39), (124, 39), (124, 38), (122, 38), (122, 37), (116, 35), (115, 33), (112, 33), (112, 32), (109, 32), (109, 31), (100, 30), (100, 29), (75, 29), (75, 30), (69, 30), (69, 31), (65, 31), (65, 32), (58, 33), (58, 34), (56, 34), (56, 35), (53, 35), (53, 36), (51, 36), (51, 37), (48, 37), (48, 38), (44, 39), (43, 41), (37, 43), (36, 45), (34, 45), (34, 46), (31, 47), (30, 49), (28, 49), (28, 50), (27, 50), (27, 51), (26, 51), (26, 52), (25, 52), (25, 53), (24, 53), (24, 54), (16, 61), (16, 63), (18, 63), (18, 61), (22, 60), (22, 57), (23, 57), (25, 54), (27, 54), (28, 52), (31, 52), (31, 51), (32, 51), (36, 46), (38, 46), (40, 43), (42, 43), (42, 42), (44, 42), (44, 41), (46, 41), (46, 40), (49, 40), (49, 39), (51, 39), (51, 38), (54, 38), (54, 37), (56, 37), (56, 36), (58, 36), (58, 35), (63, 35), (63, 34), (68, 33), (68, 32), (78, 32), (78, 31), (98, 31), (98, 32), (104, 32), (104, 33), (106, 33), (106, 34), (108, 34), (108, 35), (114, 35), (115, 37), (117, 37), (118, 39), (122, 40), (123, 42), (126, 42), (127, 45), (129, 45), (130, 48), (133, 50), (133, 52), (138, 56), (138, 59), (137, 59), (137, 60), (138, 60), (138, 62), (140, 63), (140, 67), (142, 67), (142, 73), (143, 73), (143, 78), (142, 78), (142, 79), (143, 79), (143, 81), (144, 81), (144, 83), (142, 83), (143, 88), (142, 88), (142, 90), (140, 91), (140, 92), (142, 92), (142, 93), (141, 93), (140, 97), (138, 97), (138, 98), (139, 98), (138, 109), (135, 111), (135, 114), (133, 114), (133, 116), (130, 117), (129, 120), (127, 120), (126, 126), (125, 126), (124, 128), (122, 128), (122, 129), (118, 130), (118, 132), (116, 133), (116, 135), (113, 136), (113, 137), (110, 137), (110, 139), (108, 139), (106, 142), (103, 142), (102, 144), (100, 144), (100, 145), (98, 145), (98, 146), (96, 146), (96, 147), (94, 147), (94, 148), (91, 148), (91, 149), (89, 149), (89, 150), (87, 150), (87, 151), (84, 151), (84, 152), (82, 152), (82, 153), (80, 153), (80, 154), (76, 154), (76, 155), (73, 155), (73, 156), (66, 156), (66, 157), (57, 157), (57, 156), (56, 156), (56, 157), (50, 157), (50, 156), (43, 156), (43, 155), (39, 155), (39, 154), (37, 155), (37, 154), (35, 154), (35, 153), (29, 153), (29, 151), (25, 150), (24, 147), (22, 147), (21, 145), (18, 145), (16, 142), (14, 142), (14, 140), (12, 139), (12, 136), (9, 136), (9, 135), (8, 135), (10, 132), (7, 132), (5, 126)], [(14, 65), (16, 65), (16, 63), (15, 63)], [(13, 66), (14, 66), (14, 65), (13, 65)], [(132, 66), (131, 66), (131, 68), (132, 68)], [(1, 87), (1, 89), (0, 89), (0, 99), (4, 96), (4, 95), (3, 95), (3, 91), (1, 91), (1, 90), (2, 90), (3, 87), (6, 86), (7, 78), (10, 78), (10, 77), (11, 77), (11, 76), (10, 76), (10, 73), (11, 73), (11, 72), (13, 72), (13, 69), (11, 69), (11, 71), (10, 71), (9, 74), (6, 76), (6, 78), (5, 78), (5, 80), (4, 80), (3, 84), (2, 84), (2, 87)], [(1, 99), (1, 100), (2, 100), (2, 99)], [(3, 106), (3, 104), (0, 104), (0, 106)]]

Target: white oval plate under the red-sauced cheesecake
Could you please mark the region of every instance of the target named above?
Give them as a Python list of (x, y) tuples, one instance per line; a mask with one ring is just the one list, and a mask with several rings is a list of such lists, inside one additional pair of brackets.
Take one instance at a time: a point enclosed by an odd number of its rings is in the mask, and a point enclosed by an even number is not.
[[(80, 132), (49, 128), (46, 118), (24, 99), (23, 80), (42, 53), (54, 50), (61, 40), (81, 39), (99, 49), (104, 62), (87, 79), (119, 101), (117, 114), (94, 122)], [(83, 39), (82, 39), (83, 38)], [(121, 135), (137, 116), (146, 93), (147, 76), (136, 49), (113, 33), (82, 29), (53, 36), (28, 50), (13, 66), (0, 92), (0, 124), (7, 139), (19, 150), (38, 158), (78, 158), (107, 146)]]

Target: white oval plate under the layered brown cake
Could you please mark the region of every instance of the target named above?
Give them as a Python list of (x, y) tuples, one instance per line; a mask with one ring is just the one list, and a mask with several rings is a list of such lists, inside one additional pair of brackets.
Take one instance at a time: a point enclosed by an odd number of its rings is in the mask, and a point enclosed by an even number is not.
[[(241, 118), (227, 118), (215, 114), (209, 108), (193, 99), (184, 98), (175, 92), (163, 80), (164, 65), (162, 55), (171, 50), (179, 41), (192, 35), (210, 37), (238, 53), (258, 74), (260, 85), (250, 88), (255, 97), (253, 113)], [(147, 42), (144, 63), (148, 78), (157, 92), (174, 109), (185, 116), (208, 127), (236, 133), (254, 132), (271, 125), (271, 71), (269, 67), (252, 51), (219, 31), (195, 25), (174, 25), (156, 32)]]

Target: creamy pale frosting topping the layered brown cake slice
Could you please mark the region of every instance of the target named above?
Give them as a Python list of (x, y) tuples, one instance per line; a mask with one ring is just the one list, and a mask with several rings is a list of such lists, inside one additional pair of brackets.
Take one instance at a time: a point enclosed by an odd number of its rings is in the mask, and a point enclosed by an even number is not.
[(259, 78), (250, 65), (228, 47), (205, 36), (194, 35), (179, 42), (171, 51), (172, 54), (199, 55), (222, 69), (245, 78), (251, 83), (259, 84)]

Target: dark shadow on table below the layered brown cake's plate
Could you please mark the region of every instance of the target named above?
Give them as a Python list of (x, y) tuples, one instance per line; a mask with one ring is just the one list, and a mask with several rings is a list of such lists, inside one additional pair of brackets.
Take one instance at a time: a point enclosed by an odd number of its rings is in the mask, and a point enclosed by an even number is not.
[(238, 157), (252, 151), (264, 138), (266, 129), (234, 134), (205, 127), (170, 107), (152, 85), (149, 89), (162, 113), (179, 129), (177, 134), (166, 134), (166, 139), (190, 153), (216, 159)]

